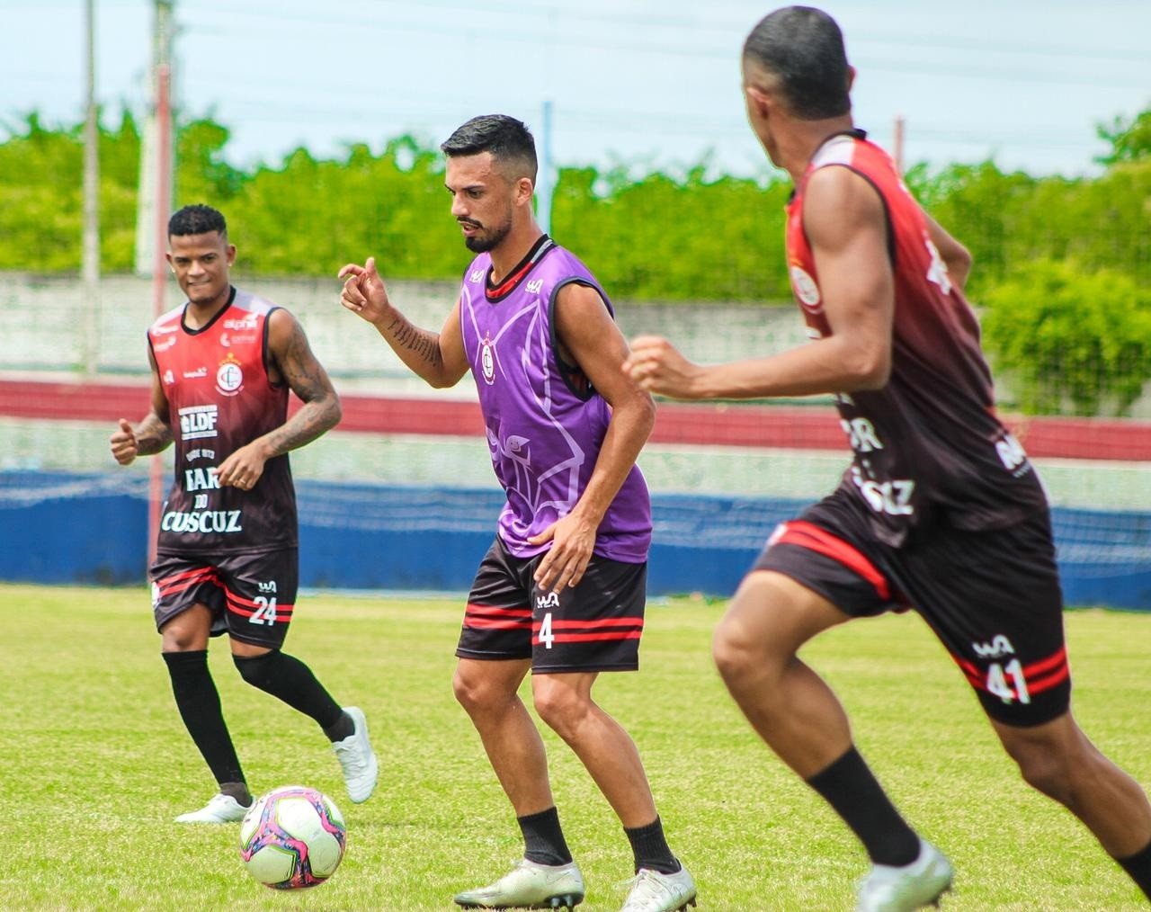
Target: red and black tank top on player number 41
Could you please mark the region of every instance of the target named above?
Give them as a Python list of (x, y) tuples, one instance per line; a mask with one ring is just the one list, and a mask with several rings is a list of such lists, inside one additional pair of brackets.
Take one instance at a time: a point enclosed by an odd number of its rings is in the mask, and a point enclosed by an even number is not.
[(832, 166), (861, 175), (883, 202), (895, 296), (887, 385), (837, 396), (854, 453), (843, 485), (867, 504), (875, 533), (894, 546), (935, 523), (994, 529), (1046, 509), (1027, 454), (996, 415), (975, 313), (951, 282), (891, 158), (862, 131), (828, 139), (787, 204), (787, 266), (809, 335), (832, 330), (803, 230), (803, 191), (815, 170)]

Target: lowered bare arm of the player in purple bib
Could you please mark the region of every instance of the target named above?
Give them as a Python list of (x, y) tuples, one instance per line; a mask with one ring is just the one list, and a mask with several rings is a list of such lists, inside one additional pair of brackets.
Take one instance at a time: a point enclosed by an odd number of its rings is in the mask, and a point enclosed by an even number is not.
[(655, 403), (619, 371), (627, 357), (627, 342), (599, 292), (587, 286), (564, 286), (556, 301), (556, 334), (562, 356), (578, 365), (595, 390), (611, 405), (603, 444), (592, 477), (574, 509), (531, 539), (551, 540), (551, 549), (535, 572), (539, 585), (559, 591), (584, 577), (596, 532), (608, 507), (655, 425)]

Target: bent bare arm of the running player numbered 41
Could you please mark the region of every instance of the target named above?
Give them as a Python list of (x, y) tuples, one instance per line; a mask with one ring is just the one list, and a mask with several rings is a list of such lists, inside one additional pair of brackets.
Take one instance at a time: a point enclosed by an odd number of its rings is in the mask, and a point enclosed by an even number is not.
[(779, 355), (712, 366), (693, 364), (665, 339), (640, 336), (632, 342), (625, 373), (645, 389), (685, 400), (882, 388), (891, 371), (894, 280), (879, 196), (847, 168), (821, 168), (808, 181), (803, 226), (830, 336)]

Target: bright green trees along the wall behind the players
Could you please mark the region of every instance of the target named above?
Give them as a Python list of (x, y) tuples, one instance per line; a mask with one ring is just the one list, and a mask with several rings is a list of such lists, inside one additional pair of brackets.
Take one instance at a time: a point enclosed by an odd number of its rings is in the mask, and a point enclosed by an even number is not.
[[(1151, 109), (1099, 128), (1112, 150), (1098, 177), (1034, 177), (992, 161), (906, 175), (928, 210), (967, 244), (968, 288), (989, 351), (1030, 411), (1123, 413), (1151, 378)], [(101, 124), (101, 260), (132, 266), (139, 130)], [(411, 136), (335, 159), (297, 149), (239, 169), (228, 129), (208, 117), (176, 139), (176, 204), (222, 208), (239, 268), (334, 275), (374, 254), (392, 278), (456, 279), (468, 260), (448, 215), (436, 149)], [(0, 268), (75, 272), (81, 258), (82, 124), (30, 114), (0, 143)], [(551, 231), (579, 250), (618, 299), (790, 298), (783, 175), (711, 176), (615, 167), (561, 168)]]

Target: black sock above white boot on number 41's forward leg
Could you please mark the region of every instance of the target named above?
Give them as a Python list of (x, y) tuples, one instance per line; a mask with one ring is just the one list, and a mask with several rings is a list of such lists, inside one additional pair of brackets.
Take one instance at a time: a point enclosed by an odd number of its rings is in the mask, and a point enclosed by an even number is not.
[(860, 837), (872, 864), (899, 867), (920, 857), (920, 837), (899, 815), (854, 746), (807, 784)]

